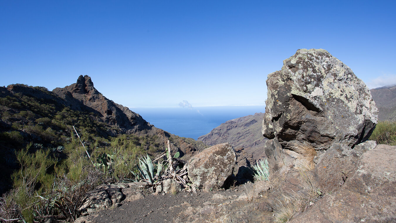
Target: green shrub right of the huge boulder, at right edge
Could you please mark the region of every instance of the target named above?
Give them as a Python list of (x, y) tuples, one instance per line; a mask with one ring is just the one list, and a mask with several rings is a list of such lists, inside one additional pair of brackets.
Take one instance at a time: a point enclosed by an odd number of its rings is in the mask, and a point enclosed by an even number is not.
[(377, 144), (396, 145), (396, 122), (378, 122), (369, 140)]

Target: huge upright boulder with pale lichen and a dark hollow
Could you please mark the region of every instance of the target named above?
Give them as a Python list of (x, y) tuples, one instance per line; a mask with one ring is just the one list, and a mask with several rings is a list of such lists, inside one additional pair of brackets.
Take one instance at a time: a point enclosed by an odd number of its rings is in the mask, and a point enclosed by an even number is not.
[(262, 133), (288, 148), (305, 141), (318, 149), (366, 141), (377, 123), (370, 91), (326, 50), (301, 49), (268, 74)]

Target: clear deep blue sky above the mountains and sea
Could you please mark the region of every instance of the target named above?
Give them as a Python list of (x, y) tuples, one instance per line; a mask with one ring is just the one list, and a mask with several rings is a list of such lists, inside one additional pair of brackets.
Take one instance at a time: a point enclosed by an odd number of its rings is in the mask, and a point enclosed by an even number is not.
[(394, 1), (0, 1), (0, 85), (91, 76), (128, 107), (263, 105), (267, 74), (323, 48), (396, 83)]

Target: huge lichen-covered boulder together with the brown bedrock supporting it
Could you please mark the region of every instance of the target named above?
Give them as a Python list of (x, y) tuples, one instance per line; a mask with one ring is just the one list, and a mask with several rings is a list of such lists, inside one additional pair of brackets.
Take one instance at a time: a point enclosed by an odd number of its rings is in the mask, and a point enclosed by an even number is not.
[(326, 50), (298, 50), (267, 86), (269, 206), (303, 212), (291, 222), (395, 221), (396, 147), (366, 141), (378, 110), (350, 68)]

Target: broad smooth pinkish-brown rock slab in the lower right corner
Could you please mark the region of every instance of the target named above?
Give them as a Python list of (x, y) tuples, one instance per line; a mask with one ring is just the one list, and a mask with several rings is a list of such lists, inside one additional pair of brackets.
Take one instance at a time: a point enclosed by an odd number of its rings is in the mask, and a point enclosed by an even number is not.
[(291, 222), (396, 222), (396, 146), (365, 152), (341, 183)]

